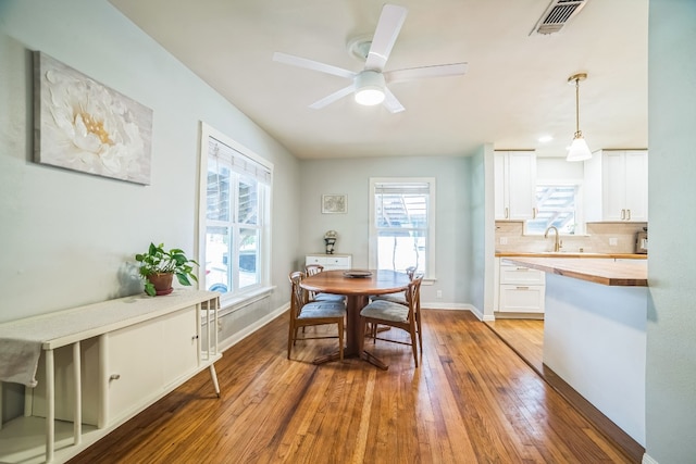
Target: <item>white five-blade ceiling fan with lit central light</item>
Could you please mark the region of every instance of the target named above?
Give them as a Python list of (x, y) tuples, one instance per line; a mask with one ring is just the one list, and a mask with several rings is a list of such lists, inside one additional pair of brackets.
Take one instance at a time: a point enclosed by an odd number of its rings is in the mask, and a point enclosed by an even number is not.
[(356, 40), (351, 43), (353, 52), (361, 54), (365, 59), (364, 68), (360, 72), (348, 71), (282, 52), (275, 52), (273, 60), (351, 80), (349, 86), (315, 101), (310, 104), (310, 108), (324, 108), (349, 93), (355, 93), (356, 101), (360, 104), (384, 103), (391, 113), (398, 113), (403, 111), (405, 108), (391, 93), (387, 84), (424, 77), (455, 76), (467, 72), (467, 63), (439, 64), (384, 72), (384, 66), (406, 21), (407, 13), (408, 10), (403, 7), (385, 4), (372, 40)]

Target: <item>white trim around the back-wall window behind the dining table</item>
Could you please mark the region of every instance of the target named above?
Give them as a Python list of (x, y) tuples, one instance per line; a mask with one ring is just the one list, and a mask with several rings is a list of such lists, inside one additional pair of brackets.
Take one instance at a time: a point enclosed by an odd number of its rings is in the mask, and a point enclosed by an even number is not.
[(427, 263), (426, 275), (423, 276), (423, 283), (432, 283), (437, 278), (435, 277), (435, 210), (436, 199), (435, 191), (436, 184), (435, 177), (370, 177), (370, 237), (368, 239), (368, 266), (371, 269), (377, 268), (377, 227), (374, 221), (374, 191), (375, 184), (382, 183), (427, 183), (430, 184), (430, 201), (427, 205)]

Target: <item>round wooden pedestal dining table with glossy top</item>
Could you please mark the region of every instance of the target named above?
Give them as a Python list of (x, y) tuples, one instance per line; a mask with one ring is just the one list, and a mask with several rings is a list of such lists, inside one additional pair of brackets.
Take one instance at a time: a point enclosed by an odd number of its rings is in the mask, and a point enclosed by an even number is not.
[[(372, 294), (396, 293), (408, 288), (409, 276), (395, 271), (324, 271), (302, 279), (306, 290), (346, 296), (346, 348), (344, 358), (361, 358), (377, 367), (386, 369), (380, 359), (363, 351), (360, 353), (360, 311), (370, 302)], [(338, 359), (338, 353), (318, 358), (314, 364)]]

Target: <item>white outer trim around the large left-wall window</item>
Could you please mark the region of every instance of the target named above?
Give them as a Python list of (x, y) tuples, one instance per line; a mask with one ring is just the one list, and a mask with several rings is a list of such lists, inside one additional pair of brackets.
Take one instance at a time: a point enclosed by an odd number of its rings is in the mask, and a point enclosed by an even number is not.
[(260, 214), (263, 214), (263, 227), (261, 228), (261, 250), (259, 253), (259, 260), (262, 263), (261, 274), (260, 274), (260, 286), (252, 286), (248, 289), (239, 290), (234, 293), (225, 293), (221, 297), (221, 305), (222, 308), (227, 308), (231, 305), (239, 304), (241, 301), (247, 298), (254, 298), (260, 291), (268, 291), (271, 286), (271, 256), (272, 256), (272, 241), (271, 240), (271, 211), (273, 210), (273, 163), (249, 150), (247, 147), (221, 133), (220, 130), (214, 129), (208, 124), (201, 121), (200, 123), (200, 149), (199, 149), (199, 173), (198, 173), (198, 206), (197, 206), (197, 217), (198, 217), (198, 227), (197, 227), (197, 237), (196, 237), (196, 255), (198, 256), (199, 266), (199, 275), (198, 275), (198, 289), (204, 290), (206, 286), (206, 226), (207, 226), (207, 187), (208, 187), (208, 139), (214, 138), (225, 143), (229, 148), (238, 151), (250, 160), (261, 164), (265, 168), (268, 168), (271, 173), (271, 180), (269, 183), (268, 190), (268, 208), (263, 206), (260, 211)]

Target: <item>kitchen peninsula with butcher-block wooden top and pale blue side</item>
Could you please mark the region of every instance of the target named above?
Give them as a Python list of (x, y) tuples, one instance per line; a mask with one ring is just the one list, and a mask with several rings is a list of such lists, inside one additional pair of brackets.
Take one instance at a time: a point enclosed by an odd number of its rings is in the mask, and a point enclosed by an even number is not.
[(647, 262), (501, 259), (546, 273), (544, 364), (645, 447)]

